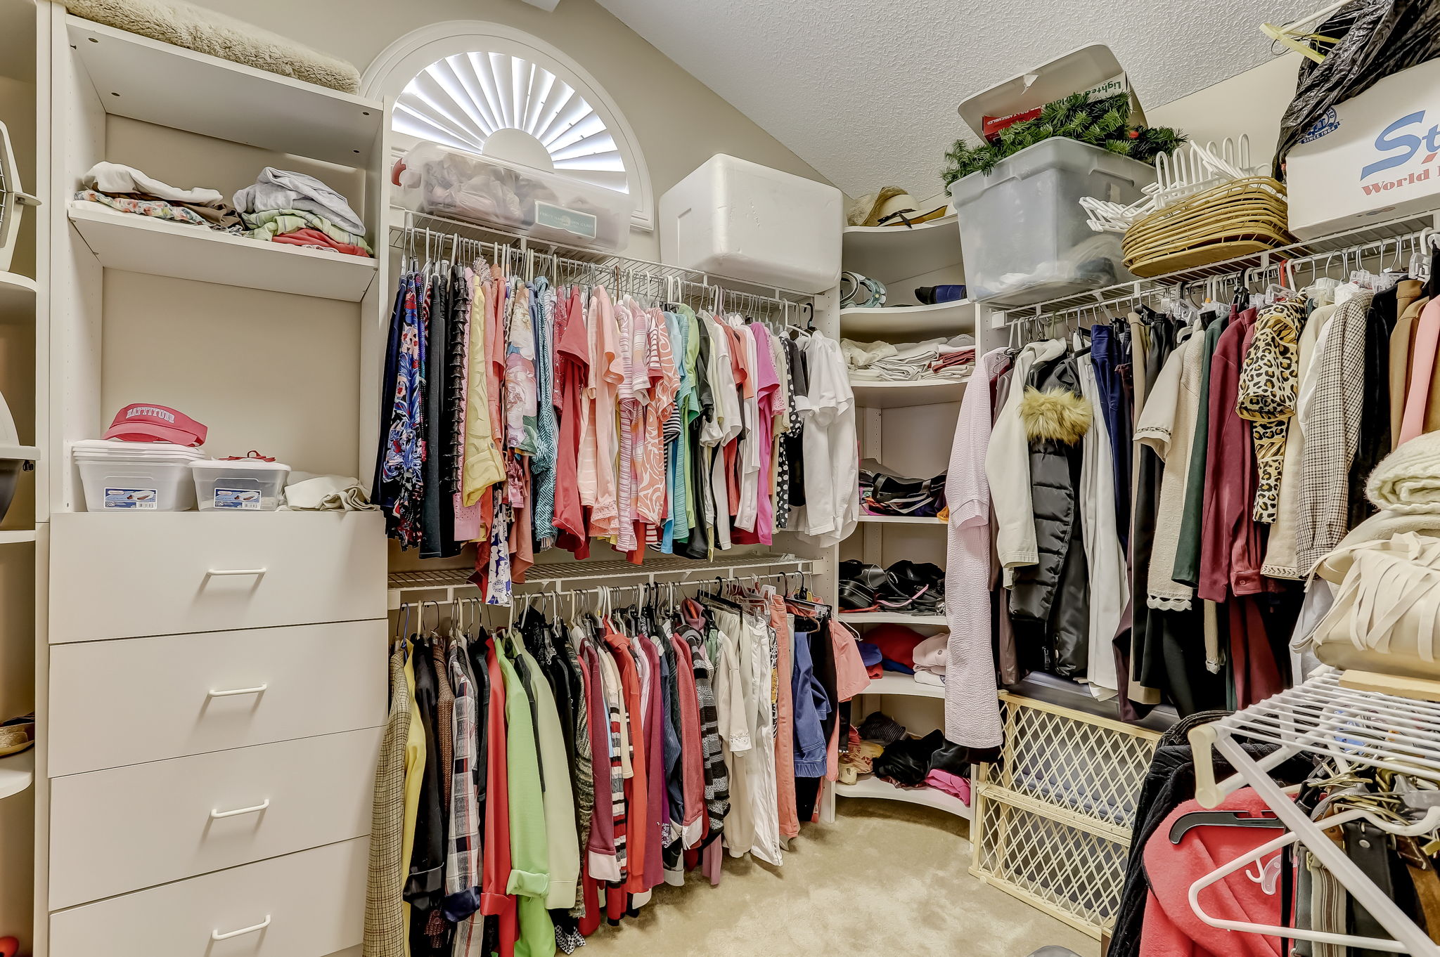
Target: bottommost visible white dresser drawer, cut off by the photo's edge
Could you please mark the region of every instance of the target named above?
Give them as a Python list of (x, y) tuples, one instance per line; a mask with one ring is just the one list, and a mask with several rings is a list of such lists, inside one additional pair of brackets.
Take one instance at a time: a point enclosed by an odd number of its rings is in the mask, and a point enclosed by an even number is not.
[[(50, 914), (50, 957), (324, 957), (360, 943), (370, 839)], [(216, 935), (265, 924), (225, 940)], [(356, 951), (359, 953), (359, 951)]]

